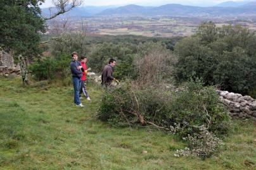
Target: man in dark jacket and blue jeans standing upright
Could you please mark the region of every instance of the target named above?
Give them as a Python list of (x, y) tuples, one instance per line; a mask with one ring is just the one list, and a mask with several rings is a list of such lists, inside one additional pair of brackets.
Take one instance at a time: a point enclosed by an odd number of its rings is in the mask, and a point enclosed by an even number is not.
[(81, 77), (82, 77), (82, 71), (81, 71), (81, 64), (79, 61), (77, 61), (77, 52), (72, 52), (72, 61), (70, 63), (70, 70), (72, 73), (72, 82), (74, 86), (74, 102), (75, 106), (84, 107), (79, 99), (79, 90), (81, 87)]

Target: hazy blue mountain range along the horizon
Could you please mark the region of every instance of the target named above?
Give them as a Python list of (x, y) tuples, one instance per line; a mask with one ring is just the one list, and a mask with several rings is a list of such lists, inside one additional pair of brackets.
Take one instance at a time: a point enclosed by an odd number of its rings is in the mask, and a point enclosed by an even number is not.
[[(49, 15), (47, 9), (42, 9)], [(69, 11), (67, 16), (256, 16), (256, 1), (227, 1), (217, 6), (198, 7), (166, 4), (158, 7), (127, 5), (120, 7), (85, 6)]]

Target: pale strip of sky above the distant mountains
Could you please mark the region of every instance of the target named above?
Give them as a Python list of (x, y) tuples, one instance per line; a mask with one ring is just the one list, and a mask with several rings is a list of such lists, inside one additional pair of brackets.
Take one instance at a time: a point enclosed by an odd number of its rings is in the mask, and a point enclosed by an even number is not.
[[(122, 6), (127, 4), (138, 4), (143, 6), (160, 6), (163, 4), (185, 4), (191, 6), (211, 6), (215, 4), (222, 3), (224, 1), (231, 0), (83, 0), (82, 6)], [(232, 1), (241, 1), (241, 0), (232, 0)], [(52, 5), (52, 0), (45, 0), (45, 3), (42, 4), (41, 8), (47, 8)]]

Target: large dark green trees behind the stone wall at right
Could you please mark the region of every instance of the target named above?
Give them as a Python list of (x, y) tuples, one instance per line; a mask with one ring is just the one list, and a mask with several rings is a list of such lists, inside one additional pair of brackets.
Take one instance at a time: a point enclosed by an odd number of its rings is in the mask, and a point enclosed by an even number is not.
[(255, 32), (240, 25), (203, 23), (192, 37), (175, 46), (177, 80), (201, 78), (206, 85), (248, 94), (256, 87)]

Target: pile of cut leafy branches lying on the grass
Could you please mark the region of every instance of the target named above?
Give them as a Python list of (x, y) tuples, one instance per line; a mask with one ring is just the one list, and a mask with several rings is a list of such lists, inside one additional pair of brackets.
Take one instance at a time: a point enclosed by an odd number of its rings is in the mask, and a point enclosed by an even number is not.
[[(189, 82), (177, 92), (125, 83), (104, 93), (98, 118), (118, 126), (142, 124), (175, 132), (188, 137), (189, 147), (196, 150), (208, 143), (208, 137), (216, 137), (205, 149), (196, 151), (202, 157), (212, 155), (221, 143), (217, 137), (226, 135), (231, 128), (229, 114), (219, 103), (214, 88), (203, 87), (201, 82)], [(198, 128), (201, 126), (204, 131)], [(195, 140), (197, 144), (193, 144)]]

